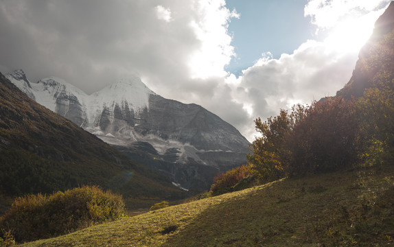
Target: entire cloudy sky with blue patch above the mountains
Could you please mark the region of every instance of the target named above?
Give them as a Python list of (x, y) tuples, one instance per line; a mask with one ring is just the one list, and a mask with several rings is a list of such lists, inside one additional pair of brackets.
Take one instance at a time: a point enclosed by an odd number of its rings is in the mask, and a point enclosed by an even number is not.
[(0, 71), (93, 93), (137, 75), (249, 141), (253, 120), (335, 95), (390, 0), (0, 0)]

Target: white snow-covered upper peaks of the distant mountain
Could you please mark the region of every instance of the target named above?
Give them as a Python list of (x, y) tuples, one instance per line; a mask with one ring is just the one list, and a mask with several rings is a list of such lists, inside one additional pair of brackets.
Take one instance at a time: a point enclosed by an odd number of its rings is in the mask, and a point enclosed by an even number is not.
[(91, 95), (54, 76), (30, 83), (25, 73), (17, 70), (8, 79), (36, 102), (86, 128), (97, 127), (106, 110), (112, 121), (117, 107), (122, 113), (131, 110), (137, 117), (148, 110), (150, 95), (156, 95), (135, 76), (121, 78)]

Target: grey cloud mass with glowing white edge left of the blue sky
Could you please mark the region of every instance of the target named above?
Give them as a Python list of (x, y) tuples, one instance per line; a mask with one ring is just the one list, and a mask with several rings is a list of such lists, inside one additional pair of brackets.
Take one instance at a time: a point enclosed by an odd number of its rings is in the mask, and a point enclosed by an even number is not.
[(168, 84), (226, 74), (235, 16), (224, 0), (4, 0), (0, 64), (32, 80), (56, 75), (87, 93), (133, 73), (167, 94)]

